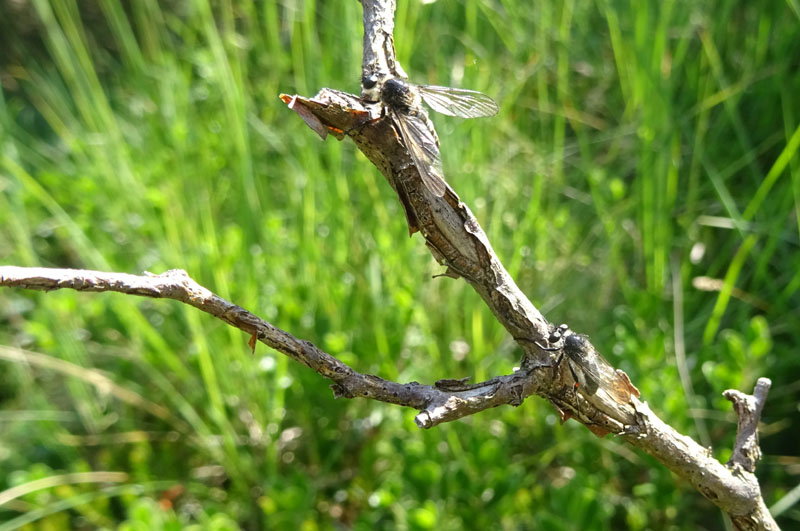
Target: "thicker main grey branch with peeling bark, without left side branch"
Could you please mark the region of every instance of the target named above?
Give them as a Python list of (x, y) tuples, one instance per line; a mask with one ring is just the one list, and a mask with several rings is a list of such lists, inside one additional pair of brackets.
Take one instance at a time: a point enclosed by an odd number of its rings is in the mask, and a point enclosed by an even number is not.
[[(395, 58), (391, 35), (393, 0), (362, 0), (364, 6), (364, 58), (362, 71), (404, 76)], [(523, 350), (523, 371), (554, 367), (555, 355), (540, 345), (547, 343), (553, 326), (520, 291), (494, 254), (486, 234), (448, 187), (443, 197), (429, 194), (418, 169), (394, 131), (382, 116), (380, 105), (341, 91), (322, 89), (313, 98), (282, 95), (282, 99), (322, 136), (334, 133), (340, 140), (349, 136), (356, 146), (386, 177), (397, 193), (408, 222), (409, 233), (420, 232), (434, 259), (447, 267), (447, 276), (463, 278), (483, 298), (498, 321)], [(373, 98), (369, 99), (370, 101)], [(728, 513), (740, 529), (777, 529), (761, 497), (758, 482), (747, 466), (723, 465), (710, 450), (679, 434), (635, 396), (620, 404), (608, 393), (570, 392), (571, 379), (564, 366), (548, 372), (550, 385), (532, 390), (549, 400), (562, 418), (575, 418), (599, 435), (620, 434), (633, 446), (656, 457), (679, 476), (688, 479), (705, 497)], [(602, 389), (601, 389), (602, 391)], [(763, 389), (766, 394), (766, 388)], [(521, 396), (527, 396), (523, 394)], [(758, 396), (758, 392), (757, 392)], [(758, 401), (758, 399), (756, 399)], [(735, 404), (737, 402), (734, 402)], [(743, 403), (743, 401), (739, 401)], [(760, 400), (763, 405), (763, 400)], [(758, 417), (760, 407), (756, 408)], [(741, 415), (741, 414), (740, 414)], [(757, 455), (755, 424), (740, 424), (740, 438), (746, 440), (736, 455), (743, 462)], [(751, 429), (752, 428), (752, 429)], [(738, 439), (737, 439), (738, 441)]]

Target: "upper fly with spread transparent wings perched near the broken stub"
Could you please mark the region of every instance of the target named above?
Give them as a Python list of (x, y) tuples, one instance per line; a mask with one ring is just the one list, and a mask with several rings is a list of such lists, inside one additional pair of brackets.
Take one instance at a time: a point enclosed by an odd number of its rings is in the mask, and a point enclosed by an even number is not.
[(486, 94), (474, 90), (414, 85), (399, 77), (381, 79), (373, 74), (365, 76), (361, 83), (365, 89), (372, 90), (381, 81), (380, 102), (384, 113), (395, 125), (422, 182), (433, 195), (443, 196), (447, 185), (439, 154), (439, 138), (422, 102), (434, 111), (460, 118), (493, 116), (497, 114), (497, 104)]

